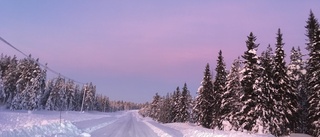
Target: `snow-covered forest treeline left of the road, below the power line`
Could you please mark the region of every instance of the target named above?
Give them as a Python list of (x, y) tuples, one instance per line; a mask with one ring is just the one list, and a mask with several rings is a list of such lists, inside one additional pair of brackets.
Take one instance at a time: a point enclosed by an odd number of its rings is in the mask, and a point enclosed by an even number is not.
[(47, 69), (31, 57), (0, 57), (0, 105), (10, 110), (103, 111), (139, 109), (142, 104), (111, 101), (96, 93), (92, 83), (76, 84), (57, 76), (47, 80)]

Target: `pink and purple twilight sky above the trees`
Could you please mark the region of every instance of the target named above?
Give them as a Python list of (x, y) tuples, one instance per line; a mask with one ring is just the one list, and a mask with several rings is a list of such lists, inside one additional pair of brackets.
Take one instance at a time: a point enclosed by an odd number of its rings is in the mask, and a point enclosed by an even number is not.
[[(287, 55), (305, 48), (310, 9), (320, 1), (1, 1), (0, 36), (52, 69), (93, 82), (112, 100), (151, 101), (184, 82), (195, 95), (206, 63), (221, 49), (228, 66), (252, 31), (274, 47), (278, 28)], [(1, 53), (18, 55), (4, 43)], [(52, 76), (53, 74), (49, 74)]]

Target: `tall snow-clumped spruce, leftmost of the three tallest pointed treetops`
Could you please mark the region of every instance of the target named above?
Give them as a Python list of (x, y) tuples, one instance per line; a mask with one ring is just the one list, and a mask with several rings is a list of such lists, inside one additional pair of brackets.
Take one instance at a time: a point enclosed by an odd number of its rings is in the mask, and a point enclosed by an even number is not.
[(244, 52), (242, 56), (244, 68), (241, 79), (241, 87), (243, 95), (240, 97), (240, 101), (243, 102), (243, 106), (239, 112), (235, 115), (239, 121), (240, 128), (248, 131), (252, 131), (256, 121), (259, 118), (257, 113), (256, 105), (258, 94), (254, 87), (255, 81), (257, 79), (258, 72), (258, 56), (256, 54), (256, 48), (259, 44), (255, 43), (256, 36), (251, 32), (246, 41), (247, 51)]

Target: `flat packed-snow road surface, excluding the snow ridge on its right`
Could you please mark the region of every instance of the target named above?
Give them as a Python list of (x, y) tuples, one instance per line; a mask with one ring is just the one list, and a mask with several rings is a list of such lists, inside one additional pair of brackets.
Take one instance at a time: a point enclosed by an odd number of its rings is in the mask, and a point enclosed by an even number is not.
[(157, 137), (158, 135), (142, 122), (135, 112), (75, 122), (74, 125), (94, 137)]

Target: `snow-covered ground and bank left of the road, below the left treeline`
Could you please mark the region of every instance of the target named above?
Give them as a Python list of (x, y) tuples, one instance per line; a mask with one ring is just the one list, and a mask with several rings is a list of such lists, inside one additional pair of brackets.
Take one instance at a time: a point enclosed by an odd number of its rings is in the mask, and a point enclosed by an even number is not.
[(0, 136), (80, 136), (73, 122), (108, 117), (105, 113), (0, 110)]

